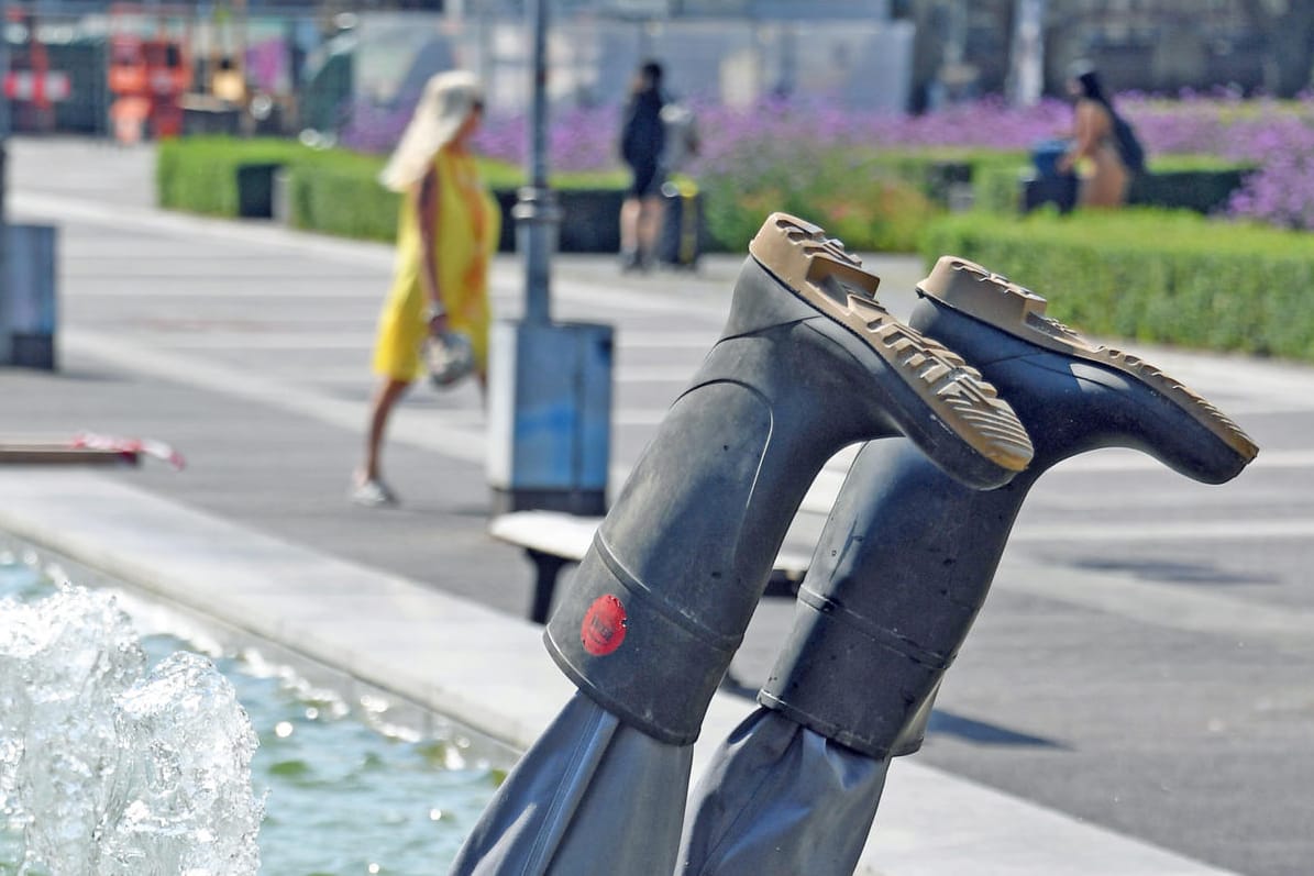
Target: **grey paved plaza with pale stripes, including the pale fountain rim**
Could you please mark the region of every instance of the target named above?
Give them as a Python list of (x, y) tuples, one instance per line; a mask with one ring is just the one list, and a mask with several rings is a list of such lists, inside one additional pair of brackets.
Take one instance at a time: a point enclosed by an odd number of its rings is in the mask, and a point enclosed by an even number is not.
[[(417, 386), (385, 458), (401, 507), (346, 499), (392, 250), (160, 211), (151, 173), (146, 147), (11, 142), (9, 221), (59, 229), (59, 370), (0, 369), (0, 439), (154, 437), (187, 468), (0, 466), (0, 531), (523, 747), (570, 688), (523, 621), (530, 565), (486, 533), (477, 391)], [(616, 327), (612, 491), (716, 339), (740, 261), (557, 260), (555, 318)], [(921, 261), (869, 267), (907, 310)], [(514, 257), (494, 285), (514, 318)], [(863, 872), (1314, 872), (1314, 368), (1129, 345), (1259, 458), (1204, 486), (1101, 450), (1039, 481), (925, 749), (891, 770)], [(766, 676), (791, 612), (762, 604), (738, 678)], [(750, 708), (719, 695), (700, 756)]]

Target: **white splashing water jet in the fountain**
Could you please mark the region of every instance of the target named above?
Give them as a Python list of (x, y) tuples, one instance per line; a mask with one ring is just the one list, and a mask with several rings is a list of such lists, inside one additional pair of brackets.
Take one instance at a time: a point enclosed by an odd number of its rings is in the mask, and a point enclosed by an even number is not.
[(0, 829), (17, 873), (247, 876), (258, 739), (209, 659), (154, 670), (112, 595), (0, 599)]

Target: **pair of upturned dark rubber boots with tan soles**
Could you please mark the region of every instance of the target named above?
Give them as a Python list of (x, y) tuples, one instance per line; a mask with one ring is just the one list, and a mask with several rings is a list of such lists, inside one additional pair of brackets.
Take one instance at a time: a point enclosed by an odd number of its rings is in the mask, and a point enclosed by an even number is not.
[(1117, 445), (1221, 482), (1256, 452), (971, 263), (942, 259), (904, 324), (816, 226), (774, 214), (749, 252), (720, 340), (544, 633), (586, 696), (661, 742), (698, 737), (803, 495), (849, 444), (903, 437), (859, 453), (804, 582), (812, 611), (761, 699), (876, 756), (920, 741), (1039, 471)]

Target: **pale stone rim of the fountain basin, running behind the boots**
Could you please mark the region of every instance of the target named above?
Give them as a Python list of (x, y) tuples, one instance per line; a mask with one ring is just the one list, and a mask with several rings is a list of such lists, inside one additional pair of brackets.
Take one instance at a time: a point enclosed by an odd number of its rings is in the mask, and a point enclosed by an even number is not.
[[(332, 559), (59, 470), (0, 470), (0, 533), (277, 642), (516, 749), (572, 686), (539, 628), (396, 575)], [(717, 693), (694, 775), (752, 705)], [(870, 876), (1206, 876), (1223, 871), (900, 759), (858, 871)]]

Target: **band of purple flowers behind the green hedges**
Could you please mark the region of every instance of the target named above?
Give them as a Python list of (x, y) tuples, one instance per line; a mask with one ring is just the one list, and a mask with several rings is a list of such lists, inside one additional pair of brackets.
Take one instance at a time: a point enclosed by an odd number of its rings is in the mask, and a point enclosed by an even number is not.
[[(394, 108), (348, 109), (344, 146), (386, 152), (401, 137), (410, 101)], [(1284, 227), (1314, 227), (1314, 97), (1300, 101), (1240, 100), (1226, 93), (1180, 100), (1122, 95), (1120, 110), (1135, 125), (1151, 160), (1156, 155), (1213, 155), (1259, 169), (1233, 200), (1230, 214)], [(1071, 125), (1072, 109), (1045, 100), (1018, 109), (997, 99), (925, 116), (861, 113), (834, 104), (763, 101), (749, 110), (700, 105), (703, 151), (694, 173), (779, 172), (782, 162), (850, 147), (963, 147), (1025, 151)], [(558, 110), (551, 117), (553, 171), (616, 168), (620, 110), (615, 106)], [(526, 117), (490, 117), (477, 135), (490, 158), (523, 164)]]

